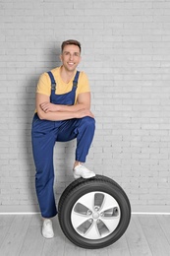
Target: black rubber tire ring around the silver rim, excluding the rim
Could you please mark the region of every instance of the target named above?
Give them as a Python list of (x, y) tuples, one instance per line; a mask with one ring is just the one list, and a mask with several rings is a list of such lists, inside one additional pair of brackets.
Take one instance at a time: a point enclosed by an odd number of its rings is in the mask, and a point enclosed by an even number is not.
[[(109, 235), (100, 239), (87, 239), (75, 230), (71, 213), (80, 198), (95, 191), (114, 198), (119, 205), (121, 215), (119, 224)], [(74, 244), (86, 249), (99, 249), (116, 242), (124, 234), (131, 220), (131, 205), (124, 190), (114, 180), (103, 175), (96, 175), (90, 179), (79, 178), (73, 181), (61, 195), (58, 219), (64, 234)]]

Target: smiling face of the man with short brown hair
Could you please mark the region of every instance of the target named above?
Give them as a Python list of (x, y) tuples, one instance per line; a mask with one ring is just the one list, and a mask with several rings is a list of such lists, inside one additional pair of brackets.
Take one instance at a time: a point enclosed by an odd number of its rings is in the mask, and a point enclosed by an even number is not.
[(67, 71), (75, 71), (81, 61), (81, 52), (79, 46), (74, 44), (66, 45), (60, 59)]

